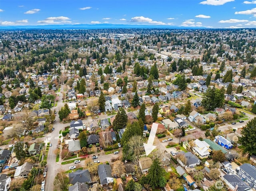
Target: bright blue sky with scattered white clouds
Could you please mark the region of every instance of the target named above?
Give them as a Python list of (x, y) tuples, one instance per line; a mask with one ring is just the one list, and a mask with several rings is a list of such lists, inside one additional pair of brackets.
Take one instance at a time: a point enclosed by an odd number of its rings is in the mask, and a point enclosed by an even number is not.
[(256, 28), (256, 0), (1, 0), (0, 26)]

